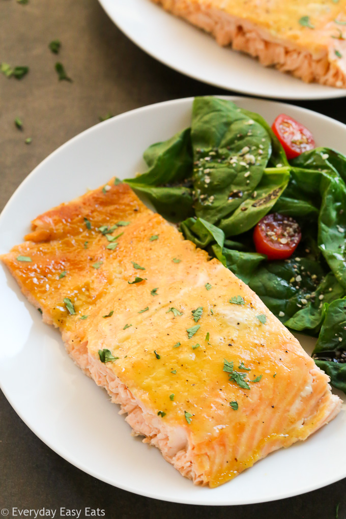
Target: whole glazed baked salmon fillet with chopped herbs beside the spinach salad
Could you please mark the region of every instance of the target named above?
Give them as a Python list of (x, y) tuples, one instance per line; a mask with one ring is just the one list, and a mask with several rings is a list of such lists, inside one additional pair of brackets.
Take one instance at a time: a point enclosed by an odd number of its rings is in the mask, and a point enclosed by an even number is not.
[(117, 180), (1, 256), (133, 434), (216, 487), (334, 418), (329, 377), (259, 297)]

